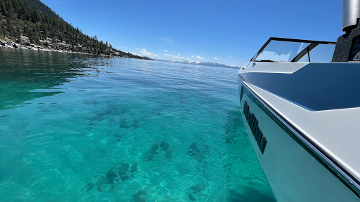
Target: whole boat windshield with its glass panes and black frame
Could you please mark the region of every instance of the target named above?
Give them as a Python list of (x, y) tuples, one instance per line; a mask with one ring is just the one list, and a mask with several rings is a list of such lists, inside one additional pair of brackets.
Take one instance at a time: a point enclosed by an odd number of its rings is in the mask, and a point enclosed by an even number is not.
[(335, 43), (270, 38), (252, 61), (257, 62), (330, 62)]

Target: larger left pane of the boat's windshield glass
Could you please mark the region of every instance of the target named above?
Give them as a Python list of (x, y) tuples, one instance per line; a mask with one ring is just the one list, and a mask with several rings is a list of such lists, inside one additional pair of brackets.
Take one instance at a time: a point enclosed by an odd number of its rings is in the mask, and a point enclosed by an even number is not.
[(270, 41), (270, 43), (257, 55), (256, 61), (273, 60), (278, 62), (290, 62), (310, 43), (293, 41)]

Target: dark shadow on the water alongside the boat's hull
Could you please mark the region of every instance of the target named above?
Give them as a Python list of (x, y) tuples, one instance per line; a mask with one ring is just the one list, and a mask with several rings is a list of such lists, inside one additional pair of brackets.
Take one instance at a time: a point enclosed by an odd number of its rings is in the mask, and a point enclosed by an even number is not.
[(229, 149), (226, 155), (226, 170), (229, 182), (236, 184), (236, 189), (229, 191), (228, 201), (275, 201), (269, 182), (246, 134), (240, 110), (228, 110), (231, 111), (228, 113), (224, 137)]

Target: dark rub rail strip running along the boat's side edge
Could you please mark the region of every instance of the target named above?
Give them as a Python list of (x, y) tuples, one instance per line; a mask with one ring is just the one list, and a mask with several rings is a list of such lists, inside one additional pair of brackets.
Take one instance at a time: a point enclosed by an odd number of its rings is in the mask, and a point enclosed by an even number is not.
[(319, 146), (317, 146), (316, 144), (314, 144), (314, 142), (309, 140), (309, 138), (306, 135), (304, 135), (300, 130), (297, 130), (297, 128), (294, 127), (293, 124), (286, 121), (286, 119), (284, 119), (283, 116), (281, 116), (281, 114), (278, 114), (278, 112), (276, 112), (276, 110), (273, 109), (273, 107), (269, 106), (266, 101), (264, 101), (261, 97), (259, 97), (259, 95), (257, 95), (257, 93), (255, 93), (255, 91), (252, 90), (250, 86), (248, 86), (248, 84), (245, 83), (245, 81), (243, 81), (240, 78), (239, 75), (236, 76), (238, 78), (238, 81), (240, 81), (243, 84), (243, 86), (255, 97), (257, 101), (259, 101), (259, 104), (262, 105), (262, 107), (264, 107), (264, 109), (266, 109), (266, 111), (268, 111), (269, 114), (273, 115), (274, 118), (279, 123), (281, 123), (284, 128), (288, 130), (288, 132), (293, 134), (294, 137), (297, 137), (297, 140), (302, 142), (304, 147), (308, 148), (306, 149), (308, 152), (314, 154), (311, 156), (316, 156), (319, 159), (319, 161), (321, 161), (326, 166), (328, 166), (328, 168), (330, 168), (330, 170), (333, 171), (331, 173), (333, 173), (335, 177), (339, 178), (347, 187), (349, 187), (349, 189), (352, 189), (352, 191), (356, 194), (356, 196), (360, 198), (360, 183), (359, 180), (356, 177), (354, 177), (354, 175), (352, 175), (352, 173), (349, 173), (349, 171), (346, 168), (344, 168), (344, 166), (341, 166), (341, 164), (338, 163), (338, 161), (333, 159), (330, 155), (324, 152), (323, 149), (319, 148)]

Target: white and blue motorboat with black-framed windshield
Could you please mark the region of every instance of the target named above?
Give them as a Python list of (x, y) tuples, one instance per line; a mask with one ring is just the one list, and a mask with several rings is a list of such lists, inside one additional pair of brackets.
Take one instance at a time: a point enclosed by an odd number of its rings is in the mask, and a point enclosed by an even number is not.
[(360, 0), (342, 15), (336, 43), (270, 38), (237, 72), (276, 201), (360, 201)]

